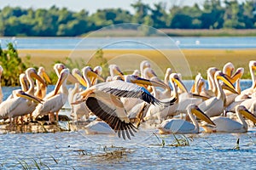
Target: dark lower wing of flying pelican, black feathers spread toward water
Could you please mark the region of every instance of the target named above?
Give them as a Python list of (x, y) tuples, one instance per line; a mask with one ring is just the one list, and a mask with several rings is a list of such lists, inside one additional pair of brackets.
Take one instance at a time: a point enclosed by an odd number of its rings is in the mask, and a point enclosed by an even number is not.
[(122, 134), (123, 139), (125, 139), (125, 135), (128, 139), (131, 139), (130, 135), (134, 136), (132, 131), (137, 132), (136, 127), (131, 122), (121, 121), (118, 109), (114, 109), (113, 105), (111, 107), (105, 104), (103, 100), (96, 99), (95, 97), (89, 97), (86, 100), (86, 105), (102, 121), (107, 122), (118, 133), (119, 137)]

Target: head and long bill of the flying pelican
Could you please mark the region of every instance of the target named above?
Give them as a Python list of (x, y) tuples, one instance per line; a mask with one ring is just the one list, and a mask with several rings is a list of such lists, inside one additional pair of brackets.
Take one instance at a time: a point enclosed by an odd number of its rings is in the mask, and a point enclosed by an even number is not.
[(137, 84), (156, 86), (160, 88), (168, 88), (167, 85), (163, 82), (155, 82), (148, 79), (144, 79), (142, 77), (137, 77), (135, 75), (127, 75), (125, 76), (125, 82), (132, 82)]

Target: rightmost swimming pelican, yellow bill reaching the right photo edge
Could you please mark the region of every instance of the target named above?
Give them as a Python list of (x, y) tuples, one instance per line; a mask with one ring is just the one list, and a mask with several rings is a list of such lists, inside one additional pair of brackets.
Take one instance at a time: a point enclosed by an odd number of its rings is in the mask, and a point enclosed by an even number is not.
[[(242, 116), (241, 116), (242, 115)], [(207, 125), (202, 126), (206, 132), (220, 132), (220, 133), (246, 133), (247, 132), (247, 122), (245, 122), (243, 116), (247, 119), (256, 123), (256, 116), (254, 116), (247, 108), (243, 105), (236, 106), (236, 116), (239, 122), (236, 122), (228, 117), (215, 116), (212, 117), (212, 122), (215, 123), (216, 127), (213, 130)]]

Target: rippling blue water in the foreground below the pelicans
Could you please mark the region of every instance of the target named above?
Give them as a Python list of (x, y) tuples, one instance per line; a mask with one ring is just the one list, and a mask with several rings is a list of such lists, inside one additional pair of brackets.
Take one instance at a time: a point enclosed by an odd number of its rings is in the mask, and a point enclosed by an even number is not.
[[(192, 81), (183, 82), (187, 88), (191, 87)], [(241, 88), (248, 88), (251, 83), (242, 80)], [(49, 86), (49, 91), (53, 88)], [(13, 89), (3, 87), (4, 96)], [(0, 169), (21, 169), (26, 165), (32, 169), (38, 169), (36, 166), (41, 169), (256, 168), (255, 127), (247, 133), (186, 134), (189, 145), (178, 147), (173, 146), (177, 141), (172, 134), (157, 133), (156, 128), (142, 125), (131, 140), (119, 139), (117, 135), (87, 135), (83, 130), (0, 134)], [(176, 138), (184, 139), (182, 135)], [(237, 139), (240, 139), (239, 150)], [(164, 147), (162, 141), (166, 143)]]

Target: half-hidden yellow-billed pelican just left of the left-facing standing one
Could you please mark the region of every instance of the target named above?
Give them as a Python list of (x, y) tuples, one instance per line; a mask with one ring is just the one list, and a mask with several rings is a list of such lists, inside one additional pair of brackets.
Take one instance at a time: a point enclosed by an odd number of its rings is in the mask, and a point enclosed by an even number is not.
[[(49, 79), (49, 76), (45, 72), (44, 67), (40, 66), (38, 68), (38, 75), (39, 75), (39, 77), (44, 79), (45, 82), (49, 82), (49, 83), (51, 82)], [(37, 96), (39, 99), (44, 99), (46, 92), (47, 92), (47, 87), (44, 86), (42, 83), (40, 83), (38, 80), (36, 80), (36, 84), (37, 84), (37, 90), (35, 92), (35, 96)]]

